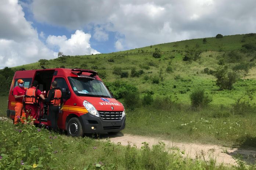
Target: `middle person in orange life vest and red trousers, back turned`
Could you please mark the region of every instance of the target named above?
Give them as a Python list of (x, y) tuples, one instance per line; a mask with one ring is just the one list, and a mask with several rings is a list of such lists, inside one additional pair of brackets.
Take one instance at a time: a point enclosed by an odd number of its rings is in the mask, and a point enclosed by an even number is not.
[[(37, 119), (37, 107), (39, 98), (45, 99), (42, 92), (37, 89), (38, 82), (35, 80), (32, 83), (32, 87), (28, 88), (26, 94), (24, 96), (24, 104), (25, 104), (25, 115), (22, 114), (22, 119), (29, 118), (31, 119), (30, 125), (34, 125), (34, 120)], [(26, 124), (26, 122), (24, 122)]]

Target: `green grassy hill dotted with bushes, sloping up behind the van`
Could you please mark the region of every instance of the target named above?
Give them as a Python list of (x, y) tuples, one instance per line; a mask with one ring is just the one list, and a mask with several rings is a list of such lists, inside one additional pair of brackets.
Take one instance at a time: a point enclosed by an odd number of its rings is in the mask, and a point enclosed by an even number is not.
[[(65, 56), (53, 60), (41, 60), (41, 62), (14, 67), (14, 69), (40, 69), (41, 65), (46, 68), (83, 68), (93, 69), (99, 72), (104, 82), (122, 80), (129, 82), (138, 88), (141, 95), (148, 90), (157, 95), (172, 95), (181, 103), (190, 103), (189, 95), (194, 89), (201, 87), (212, 95), (212, 104), (222, 103), (230, 105), (239, 97), (243, 97), (248, 86), (256, 84), (256, 68), (251, 67), (249, 73), (242, 74), (241, 80), (234, 84), (233, 90), (219, 91), (215, 85), (216, 78), (213, 75), (203, 73), (203, 69), (216, 70), (219, 60), (232, 69), (241, 63), (254, 65), (255, 51), (241, 52), (242, 45), (255, 44), (255, 34), (230, 35), (223, 38), (191, 39), (179, 42), (152, 45), (144, 48), (132, 49), (123, 52), (109, 54), (97, 54), (87, 56)], [(152, 57), (152, 53), (158, 48), (161, 58)], [(189, 50), (201, 52), (196, 61), (183, 61), (183, 57)], [(231, 55), (238, 55), (239, 60), (234, 60)], [(141, 75), (132, 77), (131, 69), (140, 71)], [(127, 78), (120, 78), (115, 72), (128, 72)], [(247, 80), (249, 79), (249, 80)], [(159, 83), (153, 83), (153, 81)], [(246, 86), (245, 86), (246, 84)], [(248, 86), (247, 86), (248, 85)], [(253, 99), (252, 102), (256, 102)]]

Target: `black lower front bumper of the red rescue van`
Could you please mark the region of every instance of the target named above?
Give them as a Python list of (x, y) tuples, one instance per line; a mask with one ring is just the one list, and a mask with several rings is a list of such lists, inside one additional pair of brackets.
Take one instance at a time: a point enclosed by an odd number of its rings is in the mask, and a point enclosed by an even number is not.
[(84, 133), (107, 133), (119, 132), (125, 129), (126, 116), (119, 121), (103, 121), (100, 117), (87, 113), (80, 116), (79, 119)]

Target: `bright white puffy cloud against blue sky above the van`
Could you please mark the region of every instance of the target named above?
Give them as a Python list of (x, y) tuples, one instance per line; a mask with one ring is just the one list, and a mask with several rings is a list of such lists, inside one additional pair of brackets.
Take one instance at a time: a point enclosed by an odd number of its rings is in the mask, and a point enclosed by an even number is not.
[(64, 55), (99, 54), (100, 52), (91, 48), (90, 38), (91, 34), (76, 30), (75, 34), (72, 34), (69, 39), (65, 35), (49, 35), (46, 42), (48, 45), (57, 46)]

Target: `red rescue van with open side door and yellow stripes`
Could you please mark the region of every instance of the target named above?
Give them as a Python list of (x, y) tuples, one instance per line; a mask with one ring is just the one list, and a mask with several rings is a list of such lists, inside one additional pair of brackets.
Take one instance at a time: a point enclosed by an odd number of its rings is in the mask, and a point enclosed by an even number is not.
[[(37, 80), (39, 90), (46, 91), (46, 94), (51, 88), (51, 82), (57, 81), (64, 101), (58, 115), (58, 127), (66, 130), (68, 135), (117, 133), (125, 128), (126, 116), (122, 103), (113, 98), (95, 71), (65, 68), (16, 71), (8, 98), (7, 117), (11, 119), (15, 116), (12, 91), (18, 79), (24, 81), (26, 88)], [(47, 126), (48, 106), (42, 108), (42, 114), (37, 116), (35, 124)]]

